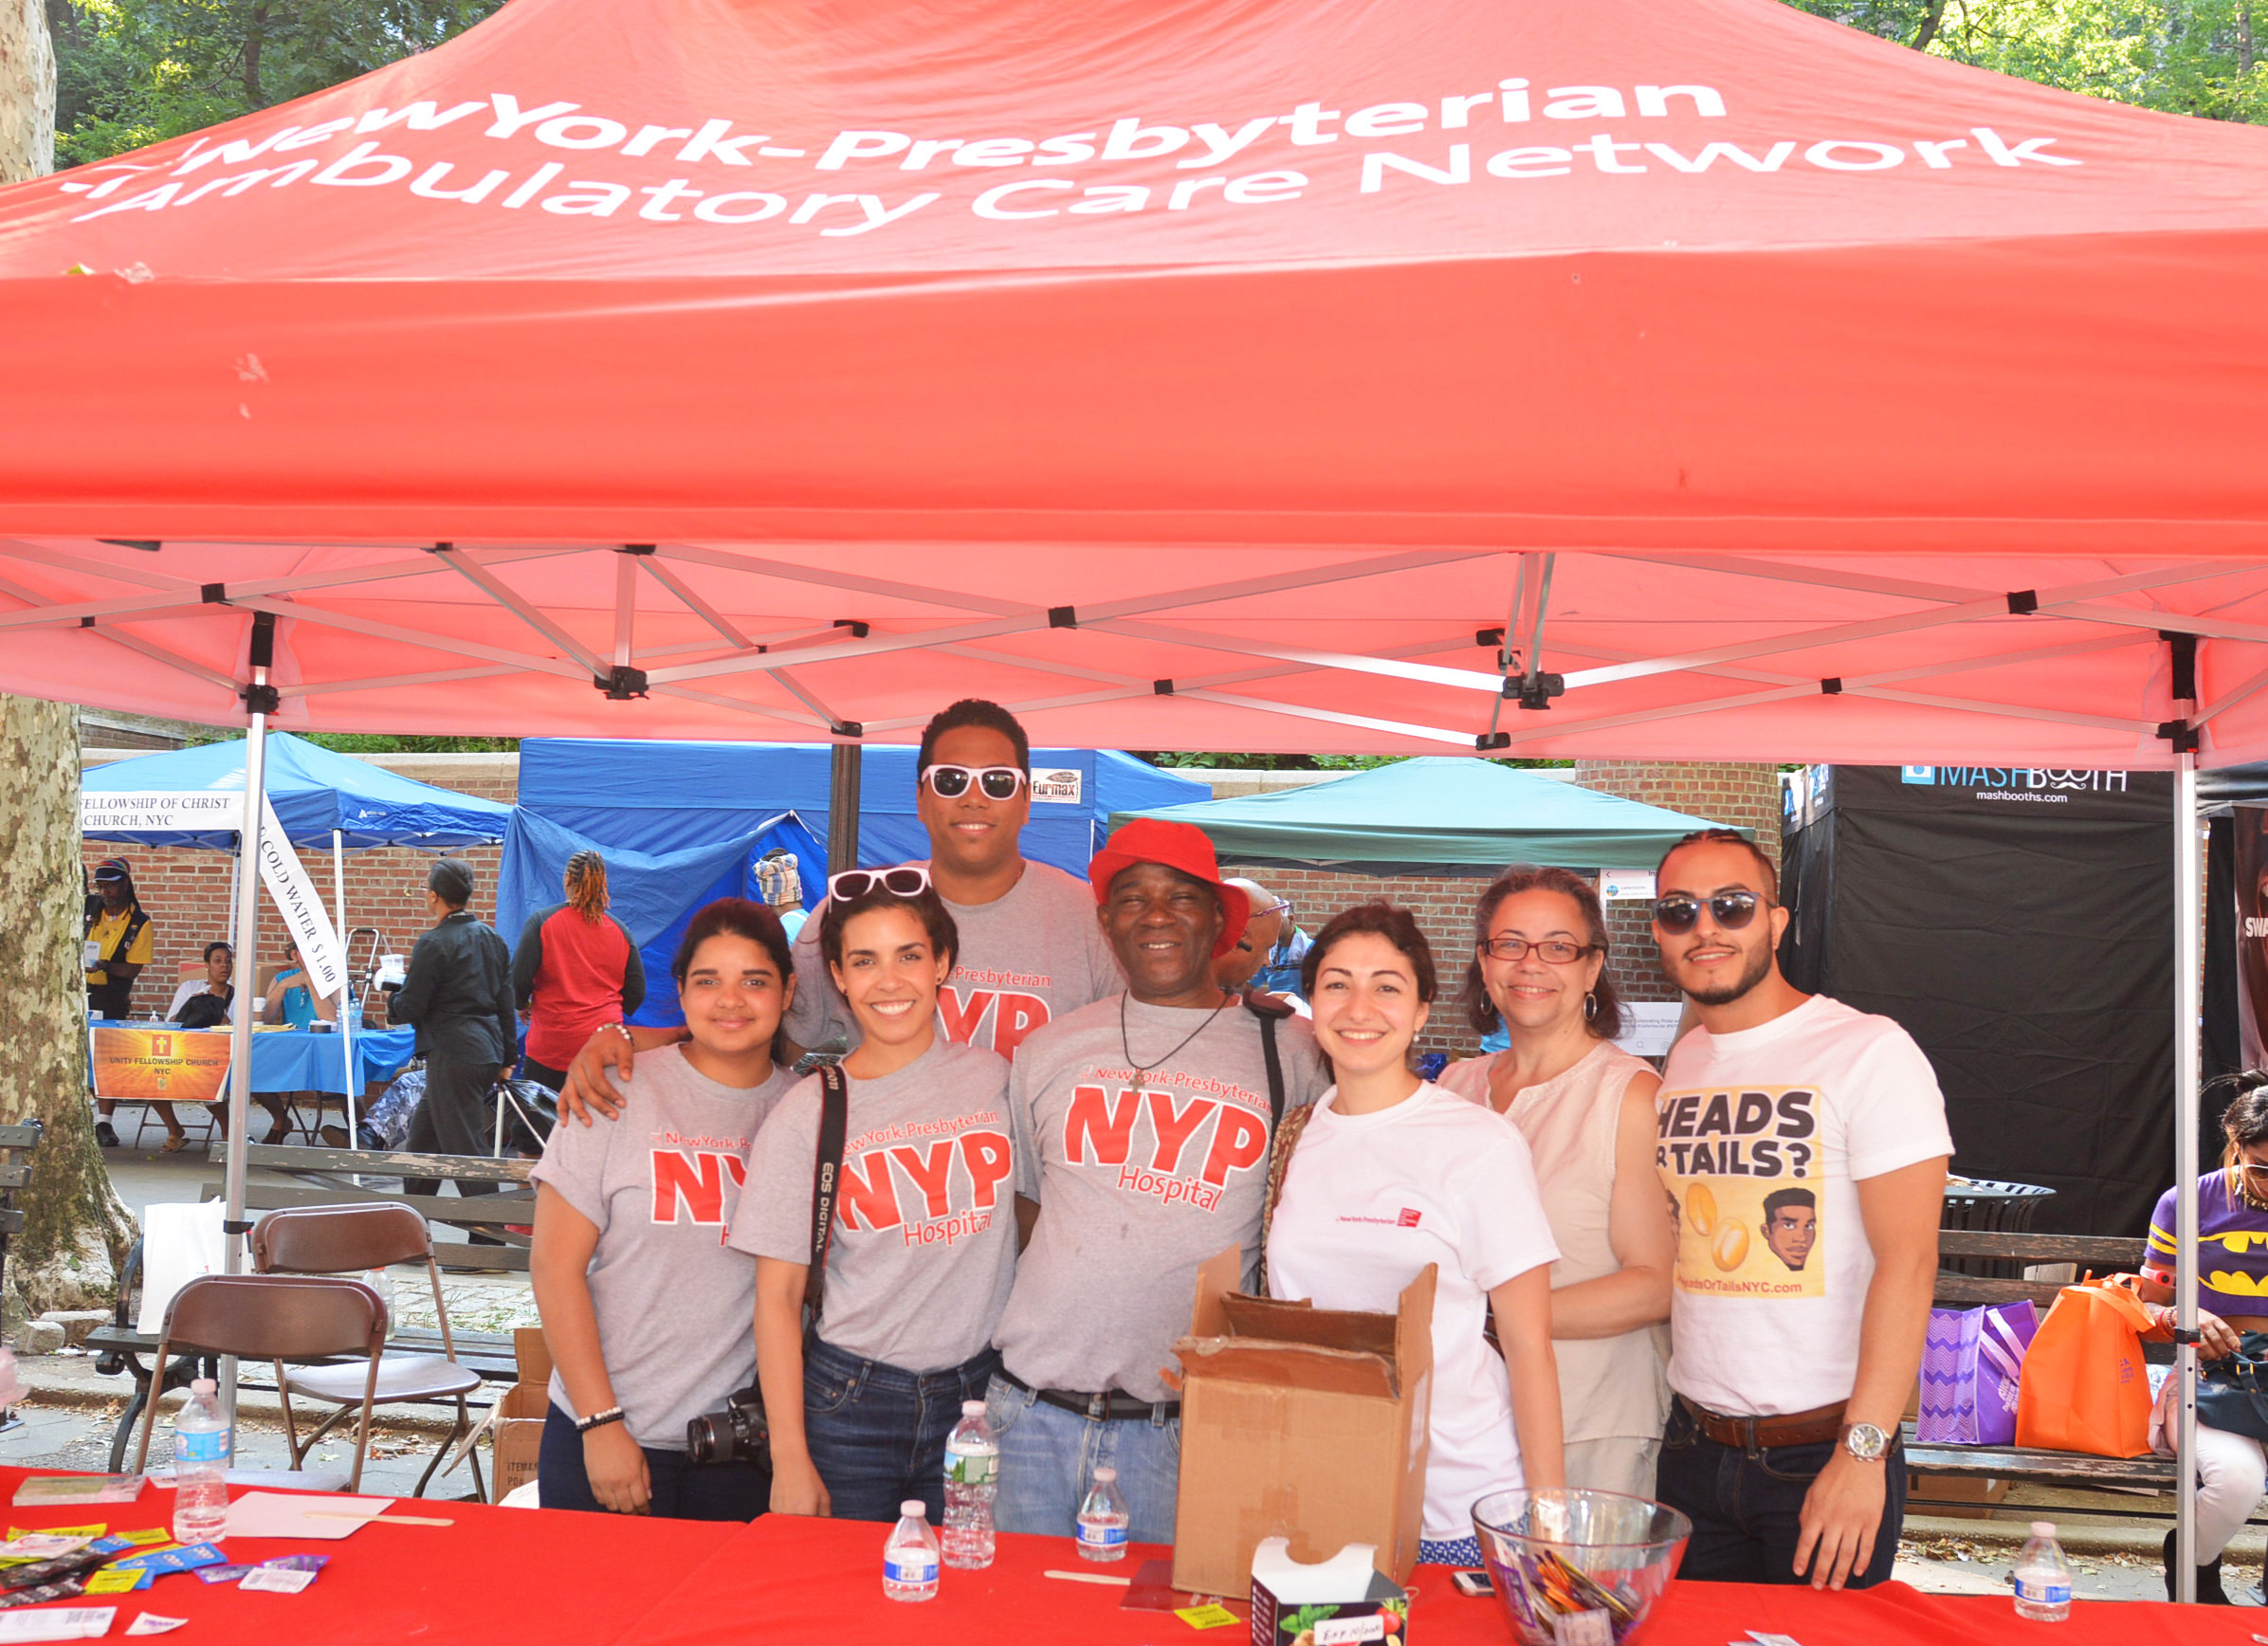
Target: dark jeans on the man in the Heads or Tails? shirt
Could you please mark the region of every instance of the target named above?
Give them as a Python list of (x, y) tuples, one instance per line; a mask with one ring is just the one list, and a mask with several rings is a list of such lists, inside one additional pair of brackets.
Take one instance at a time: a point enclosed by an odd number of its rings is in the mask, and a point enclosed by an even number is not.
[[(1810, 1583), (1808, 1573), (1796, 1573), (1799, 1517), (1803, 1496), (1837, 1444), (1821, 1440), (1742, 1451), (1703, 1435), (1685, 1406), (1672, 1401), (1653, 1496), (1694, 1524), (1678, 1576), (1701, 1583)], [(1885, 1471), (1887, 1492), (1873, 1558), (1864, 1571), (1851, 1573), (1851, 1589), (1871, 1589), (1889, 1576), (1905, 1524), (1905, 1444), (1892, 1440), (1889, 1456), (1867, 1467)]]

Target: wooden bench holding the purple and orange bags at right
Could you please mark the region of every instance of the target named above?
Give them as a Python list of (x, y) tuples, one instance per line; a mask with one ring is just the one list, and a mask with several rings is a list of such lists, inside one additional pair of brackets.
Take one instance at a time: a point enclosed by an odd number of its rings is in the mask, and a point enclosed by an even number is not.
[[(2084, 1276), (2130, 1274), (2141, 1267), (2146, 1240), (2127, 1236), (2055, 1236), (2009, 1233), (1998, 1229), (1941, 1229), (1939, 1258), (1984, 1261), (2019, 1276), (1937, 1272), (1941, 1308), (1975, 1308), (1980, 1304), (2014, 1304), (2030, 1299), (2041, 1315), (2068, 1281), (2028, 1281), (2023, 1267), (2073, 1263)], [(1982, 1267), (1982, 1263), (1978, 1263)], [(2143, 1344), (2155, 1360), (2173, 1356), (2170, 1344)], [(2180, 1476), (2173, 1458), (2096, 1458), (2084, 1451), (2041, 1451), (2037, 1446), (1939, 1446), (1916, 1444), (1914, 1426), (1905, 1426), (1905, 1467), (1914, 1474), (2023, 1480), (2028, 1485), (2062, 1485), (2075, 1490), (2152, 1490), (2173, 1492)], [(1907, 1496), (1907, 1508), (1978, 1508), (1975, 1499)], [(2102, 1515), (2109, 1519), (2173, 1519), (2170, 1510), (2057, 1505), (2057, 1515)]]

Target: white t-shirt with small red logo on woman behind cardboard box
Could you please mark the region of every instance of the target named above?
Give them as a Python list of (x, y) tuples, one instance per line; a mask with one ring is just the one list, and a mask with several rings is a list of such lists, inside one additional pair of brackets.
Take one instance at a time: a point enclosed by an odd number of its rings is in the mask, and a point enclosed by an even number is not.
[(1481, 1335), (1488, 1295), (1558, 1258), (1526, 1138), (1492, 1109), (1427, 1081), (1370, 1115), (1327, 1091), (1284, 1170), (1268, 1290), (1318, 1308), (1393, 1313), (1427, 1263), (1433, 1392), (1424, 1537), (1472, 1537), (1472, 1505), (1522, 1485), (1513, 1385)]

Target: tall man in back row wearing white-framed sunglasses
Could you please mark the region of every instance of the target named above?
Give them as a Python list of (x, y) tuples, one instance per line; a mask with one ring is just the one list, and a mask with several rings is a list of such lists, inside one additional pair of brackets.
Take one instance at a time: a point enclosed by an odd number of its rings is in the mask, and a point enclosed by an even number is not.
[[(1118, 961), (1095, 930), (1089, 889), (1018, 850), (1032, 814), (1032, 744), (1014, 714), (982, 698), (941, 710), (921, 732), (919, 773), (914, 805), (930, 834), (921, 868), (962, 934), (937, 1013), (948, 1041), (1014, 1059), (1041, 1025), (1118, 993)], [(787, 1038), (848, 1050), (857, 1027), (819, 954), (816, 918), (796, 934), (794, 957)], [(599, 1029), (569, 1066), (560, 1106), (585, 1122), (590, 1109), (612, 1118), (621, 1097), (608, 1066), (628, 1075), (635, 1052), (680, 1038), (683, 1029)]]

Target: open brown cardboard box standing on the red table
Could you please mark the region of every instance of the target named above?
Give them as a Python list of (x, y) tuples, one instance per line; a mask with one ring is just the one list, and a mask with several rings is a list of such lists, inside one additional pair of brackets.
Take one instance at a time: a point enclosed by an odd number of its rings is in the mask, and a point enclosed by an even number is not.
[(1182, 1360), (1182, 1487), (1173, 1587), (1243, 1594), (1252, 1551), (1295, 1560), (1374, 1544), (1383, 1576), (1417, 1564), (1424, 1519), (1433, 1267), (1393, 1315), (1236, 1292), (1234, 1247), (1198, 1272)]

